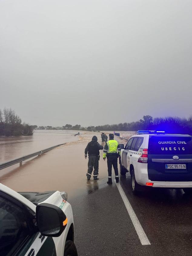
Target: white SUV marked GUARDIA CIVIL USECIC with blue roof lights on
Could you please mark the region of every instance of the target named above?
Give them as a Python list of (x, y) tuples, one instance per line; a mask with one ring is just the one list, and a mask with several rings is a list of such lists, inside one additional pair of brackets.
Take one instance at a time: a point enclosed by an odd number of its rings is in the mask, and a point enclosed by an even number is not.
[(138, 131), (121, 147), (120, 173), (131, 174), (134, 194), (141, 186), (182, 188), (192, 193), (192, 137)]

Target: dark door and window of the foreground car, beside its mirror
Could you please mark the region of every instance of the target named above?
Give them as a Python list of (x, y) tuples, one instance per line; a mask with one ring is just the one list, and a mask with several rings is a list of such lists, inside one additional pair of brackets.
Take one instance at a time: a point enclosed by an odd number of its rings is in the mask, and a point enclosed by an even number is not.
[(53, 238), (42, 236), (37, 231), (35, 221), (34, 213), (24, 204), (0, 192), (1, 256), (56, 256)]

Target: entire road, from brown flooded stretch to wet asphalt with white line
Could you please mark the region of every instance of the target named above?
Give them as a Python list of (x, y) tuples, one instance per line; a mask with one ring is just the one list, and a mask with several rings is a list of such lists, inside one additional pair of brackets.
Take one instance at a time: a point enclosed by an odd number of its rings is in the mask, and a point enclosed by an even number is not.
[(107, 162), (102, 156), (99, 180), (91, 177), (87, 181), (84, 148), (93, 135), (102, 144), (100, 134), (80, 135), (78, 141), (15, 168), (1, 182), (16, 191), (67, 191), (79, 256), (191, 255), (192, 197), (169, 189), (147, 190), (135, 196), (130, 175), (121, 176), (116, 185), (114, 171), (113, 184), (108, 185)]

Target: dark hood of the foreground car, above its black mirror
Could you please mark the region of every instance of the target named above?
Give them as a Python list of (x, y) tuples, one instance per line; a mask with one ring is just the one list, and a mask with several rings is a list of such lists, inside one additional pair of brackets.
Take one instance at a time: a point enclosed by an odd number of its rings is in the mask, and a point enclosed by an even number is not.
[(18, 192), (25, 198), (27, 198), (33, 204), (39, 204), (50, 197), (55, 191), (45, 191), (45, 192)]

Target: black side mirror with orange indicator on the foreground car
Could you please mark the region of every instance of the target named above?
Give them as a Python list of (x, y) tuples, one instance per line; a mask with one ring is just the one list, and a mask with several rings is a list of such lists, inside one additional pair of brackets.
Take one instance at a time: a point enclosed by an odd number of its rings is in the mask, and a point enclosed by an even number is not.
[(56, 205), (42, 203), (36, 206), (37, 226), (44, 236), (58, 237), (67, 225), (65, 213)]

